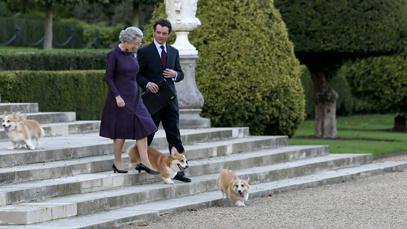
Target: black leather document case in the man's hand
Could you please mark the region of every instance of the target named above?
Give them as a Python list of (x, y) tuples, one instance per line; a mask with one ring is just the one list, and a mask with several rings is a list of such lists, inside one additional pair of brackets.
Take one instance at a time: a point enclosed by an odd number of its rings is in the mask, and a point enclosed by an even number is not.
[(157, 85), (157, 93), (147, 90), (141, 94), (141, 99), (150, 115), (157, 113), (177, 98), (165, 79), (162, 79)]

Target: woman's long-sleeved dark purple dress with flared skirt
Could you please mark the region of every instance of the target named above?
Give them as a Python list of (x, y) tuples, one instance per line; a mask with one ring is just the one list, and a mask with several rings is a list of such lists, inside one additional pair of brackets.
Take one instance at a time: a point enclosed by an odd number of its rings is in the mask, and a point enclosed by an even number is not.
[[(101, 137), (137, 140), (158, 130), (140, 96), (136, 54), (123, 52), (117, 45), (107, 54), (105, 80), (109, 92), (102, 112)], [(125, 101), (124, 107), (117, 106), (118, 95)]]

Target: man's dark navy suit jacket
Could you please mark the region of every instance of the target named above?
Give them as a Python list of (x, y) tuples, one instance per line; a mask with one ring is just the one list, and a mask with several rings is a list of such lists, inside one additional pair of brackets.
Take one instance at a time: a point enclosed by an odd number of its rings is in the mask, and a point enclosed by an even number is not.
[[(155, 47), (154, 41), (151, 44), (139, 48), (137, 51), (138, 65), (140, 71), (136, 76), (138, 85), (142, 88), (143, 92), (147, 91), (147, 83), (158, 83), (162, 79), (166, 79), (168, 85), (177, 94), (175, 89), (175, 82), (182, 81), (184, 79), (184, 72), (182, 72), (181, 64), (179, 63), (179, 52), (176, 48), (166, 44), (167, 49), (167, 66), (166, 68), (172, 69), (178, 73), (177, 80), (173, 81), (173, 78), (164, 78), (162, 74), (164, 72), (164, 66), (162, 65), (160, 55)], [(170, 103), (171, 109), (178, 111), (178, 98)]]

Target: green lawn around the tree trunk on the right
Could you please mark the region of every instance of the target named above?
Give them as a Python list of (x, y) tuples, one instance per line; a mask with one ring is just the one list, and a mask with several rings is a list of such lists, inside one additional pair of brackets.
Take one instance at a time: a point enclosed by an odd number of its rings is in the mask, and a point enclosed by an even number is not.
[[(407, 152), (407, 133), (378, 131), (391, 129), (395, 116), (364, 115), (337, 118), (338, 137), (350, 140), (291, 138), (289, 144), (328, 145), (330, 153), (372, 153), (374, 156)], [(314, 135), (314, 124), (313, 120), (306, 120), (295, 137)]]

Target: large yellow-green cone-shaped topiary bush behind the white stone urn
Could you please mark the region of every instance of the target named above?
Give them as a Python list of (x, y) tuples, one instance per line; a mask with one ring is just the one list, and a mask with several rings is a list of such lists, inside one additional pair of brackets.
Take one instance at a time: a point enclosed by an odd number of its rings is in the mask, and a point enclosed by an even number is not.
[[(299, 61), (272, 0), (199, 0), (201, 26), (189, 34), (199, 50), (195, 69), (205, 98), (202, 116), (213, 126), (249, 126), (252, 135), (293, 136), (305, 118)], [(144, 26), (166, 18), (158, 4)], [(175, 41), (175, 33), (168, 44)]]

